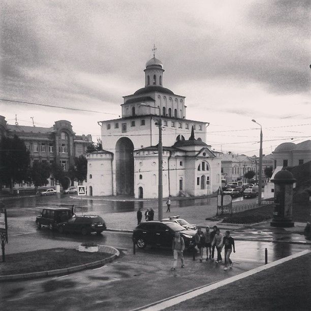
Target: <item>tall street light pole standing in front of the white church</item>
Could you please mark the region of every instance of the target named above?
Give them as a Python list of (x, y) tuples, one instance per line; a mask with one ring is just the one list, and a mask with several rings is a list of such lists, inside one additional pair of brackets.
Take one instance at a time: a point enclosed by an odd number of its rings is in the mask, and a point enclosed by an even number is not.
[(159, 144), (158, 144), (158, 219), (161, 221), (163, 219), (163, 179), (162, 179), (162, 162), (163, 162), (163, 146), (162, 146), (162, 119), (161, 119), (161, 109), (160, 107), (152, 107), (150, 105), (146, 105), (145, 103), (141, 103), (141, 106), (150, 107), (154, 109), (159, 109)]

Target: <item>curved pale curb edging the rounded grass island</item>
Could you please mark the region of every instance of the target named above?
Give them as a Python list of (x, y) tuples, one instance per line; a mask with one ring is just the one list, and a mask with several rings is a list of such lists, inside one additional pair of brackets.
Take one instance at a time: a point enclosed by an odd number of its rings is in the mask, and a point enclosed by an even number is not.
[(102, 252), (112, 254), (112, 255), (102, 260), (97, 260), (94, 262), (86, 263), (86, 264), (79, 265), (79, 266), (73, 266), (69, 268), (40, 271), (40, 272), (21, 273), (21, 274), (0, 275), (0, 282), (22, 281), (26, 279), (39, 278), (39, 277), (65, 275), (65, 274), (74, 273), (74, 272), (78, 272), (78, 271), (82, 271), (86, 269), (98, 268), (98, 267), (102, 267), (108, 262), (112, 262), (114, 259), (120, 256), (120, 252), (112, 246), (107, 246), (107, 245), (99, 245), (99, 246)]

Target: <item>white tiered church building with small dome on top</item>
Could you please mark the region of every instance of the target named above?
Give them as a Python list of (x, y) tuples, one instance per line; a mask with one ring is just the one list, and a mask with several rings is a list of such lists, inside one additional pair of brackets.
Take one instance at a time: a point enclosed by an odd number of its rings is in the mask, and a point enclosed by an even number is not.
[(159, 113), (163, 196), (202, 196), (221, 185), (221, 159), (206, 144), (206, 122), (186, 118), (185, 97), (163, 87), (161, 60), (146, 63), (145, 86), (123, 97), (122, 117), (100, 121), (103, 149), (87, 154), (90, 196), (158, 197)]

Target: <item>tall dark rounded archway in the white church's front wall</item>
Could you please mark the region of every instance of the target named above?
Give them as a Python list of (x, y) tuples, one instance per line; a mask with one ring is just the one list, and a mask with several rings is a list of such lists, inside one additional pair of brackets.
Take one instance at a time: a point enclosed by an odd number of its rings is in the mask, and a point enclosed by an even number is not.
[(115, 145), (116, 194), (134, 195), (134, 145), (127, 137)]

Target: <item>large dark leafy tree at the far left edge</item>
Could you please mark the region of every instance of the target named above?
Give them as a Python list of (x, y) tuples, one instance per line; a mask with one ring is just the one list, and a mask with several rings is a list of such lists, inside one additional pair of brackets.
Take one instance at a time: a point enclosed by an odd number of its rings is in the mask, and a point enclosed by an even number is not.
[(2, 137), (0, 141), (0, 184), (13, 186), (28, 178), (30, 164), (29, 151), (24, 142), (16, 135), (13, 138)]

